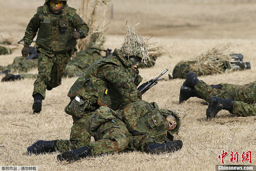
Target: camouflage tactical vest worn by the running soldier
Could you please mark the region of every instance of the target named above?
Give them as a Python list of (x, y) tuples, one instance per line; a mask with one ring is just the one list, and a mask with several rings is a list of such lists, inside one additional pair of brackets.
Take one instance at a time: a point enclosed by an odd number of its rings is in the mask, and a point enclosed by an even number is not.
[(49, 11), (47, 3), (37, 9), (40, 18), (40, 27), (36, 44), (48, 51), (60, 52), (75, 48), (76, 39), (71, 37), (75, 31), (72, 19), (76, 9), (64, 5), (61, 14), (53, 14)]

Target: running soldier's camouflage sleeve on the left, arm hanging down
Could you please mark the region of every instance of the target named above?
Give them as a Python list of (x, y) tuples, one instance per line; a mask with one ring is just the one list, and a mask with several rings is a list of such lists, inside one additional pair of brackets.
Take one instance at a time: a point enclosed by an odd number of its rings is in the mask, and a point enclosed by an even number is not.
[(30, 45), (35, 38), (35, 35), (40, 27), (40, 19), (38, 14), (35, 14), (26, 28), (25, 36), (23, 37), (24, 45)]

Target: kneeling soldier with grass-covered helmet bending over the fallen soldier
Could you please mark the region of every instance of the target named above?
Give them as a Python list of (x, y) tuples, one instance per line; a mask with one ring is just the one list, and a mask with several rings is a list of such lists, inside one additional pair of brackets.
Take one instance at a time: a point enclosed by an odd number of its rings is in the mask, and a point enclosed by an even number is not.
[[(135, 35), (133, 33), (132, 36)], [(140, 39), (143, 40), (142, 37)], [(142, 78), (137, 67), (148, 59), (148, 54), (147, 45), (135, 44), (134, 49), (129, 49), (130, 53), (124, 52), (126, 46), (123, 44), (121, 50), (115, 49), (112, 56), (95, 62), (76, 80), (68, 92), (70, 103), (65, 107), (65, 112), (73, 117), (70, 140), (58, 140), (57, 147), (68, 151), (88, 145), (91, 135), (85, 129), (86, 123), (100, 106), (117, 110), (141, 99), (136, 86)], [(145, 50), (142, 52), (138, 47)]]

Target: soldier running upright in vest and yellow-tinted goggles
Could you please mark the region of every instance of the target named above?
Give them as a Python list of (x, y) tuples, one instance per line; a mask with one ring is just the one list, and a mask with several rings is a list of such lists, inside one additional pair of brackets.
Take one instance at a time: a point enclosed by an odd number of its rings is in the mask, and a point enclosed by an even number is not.
[(61, 84), (67, 62), (75, 50), (76, 39), (85, 38), (89, 28), (76, 14), (76, 9), (67, 5), (67, 0), (46, 0), (26, 28), (21, 51), (24, 57), (27, 57), (37, 31), (38, 78), (32, 95), (33, 113), (40, 113), (46, 89), (52, 90)]

